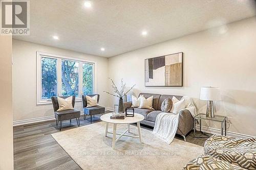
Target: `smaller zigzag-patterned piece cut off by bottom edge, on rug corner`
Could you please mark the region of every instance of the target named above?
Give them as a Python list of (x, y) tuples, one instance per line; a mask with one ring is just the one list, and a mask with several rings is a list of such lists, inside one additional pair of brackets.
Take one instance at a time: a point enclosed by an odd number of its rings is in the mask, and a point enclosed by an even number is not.
[(201, 155), (187, 163), (183, 170), (244, 170), (245, 168), (216, 159), (209, 155)]

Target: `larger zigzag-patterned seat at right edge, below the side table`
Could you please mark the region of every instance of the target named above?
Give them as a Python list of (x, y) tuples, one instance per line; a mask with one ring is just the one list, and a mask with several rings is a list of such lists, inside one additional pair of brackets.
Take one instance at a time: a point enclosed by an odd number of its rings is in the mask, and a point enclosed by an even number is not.
[(256, 138), (212, 135), (204, 143), (204, 153), (246, 169), (256, 169)]

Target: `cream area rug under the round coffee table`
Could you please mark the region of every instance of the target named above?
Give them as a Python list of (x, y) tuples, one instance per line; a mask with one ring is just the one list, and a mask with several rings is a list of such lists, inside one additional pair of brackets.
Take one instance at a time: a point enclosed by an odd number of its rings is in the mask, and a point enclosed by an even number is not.
[[(126, 125), (117, 125), (123, 132)], [(109, 125), (109, 131), (113, 126)], [(84, 170), (86, 169), (182, 169), (186, 163), (203, 154), (203, 147), (179, 139), (167, 145), (152, 131), (141, 129), (143, 143), (138, 138), (122, 136), (112, 149), (112, 134), (104, 136), (105, 123), (95, 123), (63, 132), (52, 137)], [(131, 125), (131, 134), (138, 135)], [(118, 137), (118, 135), (117, 135)]]

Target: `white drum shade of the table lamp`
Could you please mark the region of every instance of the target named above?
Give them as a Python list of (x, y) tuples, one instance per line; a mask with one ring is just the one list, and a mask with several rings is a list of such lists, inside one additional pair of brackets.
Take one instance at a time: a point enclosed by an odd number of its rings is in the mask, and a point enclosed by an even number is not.
[(201, 87), (200, 99), (204, 101), (221, 101), (219, 87)]

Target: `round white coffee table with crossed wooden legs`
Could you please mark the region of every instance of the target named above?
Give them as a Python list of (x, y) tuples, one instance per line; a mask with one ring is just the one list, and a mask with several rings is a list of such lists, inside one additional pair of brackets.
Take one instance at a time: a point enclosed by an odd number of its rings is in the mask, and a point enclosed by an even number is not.
[[(142, 143), (142, 138), (141, 138), (141, 130), (140, 130), (140, 121), (144, 119), (144, 116), (138, 113), (134, 113), (134, 117), (128, 117), (126, 116), (124, 119), (111, 119), (110, 118), (111, 113), (108, 114), (103, 114), (102, 116), (100, 116), (100, 119), (106, 123), (106, 129), (105, 129), (105, 136), (108, 133), (113, 134), (113, 140), (112, 140), (112, 148), (115, 148), (115, 144), (116, 142), (122, 137), (122, 136), (130, 136), (130, 137), (137, 137), (140, 139), (140, 142)], [(137, 123), (137, 127), (138, 127), (138, 133), (139, 136), (135, 136), (135, 135), (129, 135), (129, 134), (125, 134), (126, 132), (130, 133), (130, 124), (134, 124)], [(113, 132), (109, 132), (109, 124), (113, 124)], [(123, 133), (116, 133), (116, 127), (117, 124), (127, 124), (127, 129), (123, 132)], [(117, 139), (116, 139), (116, 135), (120, 135)]]

